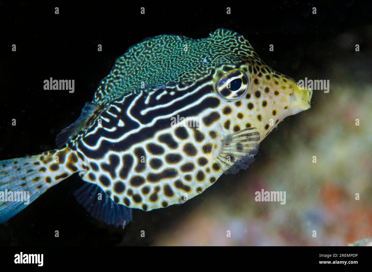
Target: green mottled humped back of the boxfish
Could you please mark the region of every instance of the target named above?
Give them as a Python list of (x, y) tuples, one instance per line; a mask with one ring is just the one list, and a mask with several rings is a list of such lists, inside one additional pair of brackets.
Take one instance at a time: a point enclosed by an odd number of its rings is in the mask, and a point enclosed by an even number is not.
[(242, 59), (250, 61), (249, 56), (258, 59), (247, 39), (228, 29), (217, 29), (202, 39), (180, 35), (147, 38), (116, 59), (110, 74), (97, 89), (93, 103), (101, 104), (100, 100), (109, 101), (141, 87), (168, 82), (189, 85), (210, 73), (213, 67)]

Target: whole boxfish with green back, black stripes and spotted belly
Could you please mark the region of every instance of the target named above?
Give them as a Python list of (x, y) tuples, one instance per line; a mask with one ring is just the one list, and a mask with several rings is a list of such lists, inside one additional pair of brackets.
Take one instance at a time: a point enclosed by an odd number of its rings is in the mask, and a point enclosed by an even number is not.
[[(0, 188), (29, 189), (33, 201), (78, 172), (87, 182), (80, 203), (125, 225), (128, 208), (181, 204), (246, 169), (273, 128), (310, 108), (311, 95), (234, 31), (148, 38), (116, 59), (79, 119), (57, 136), (59, 149), (0, 161)], [(99, 214), (89, 208), (97, 192), (108, 208)], [(6, 220), (23, 208), (9, 206), (0, 204)]]

